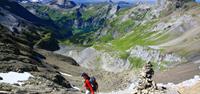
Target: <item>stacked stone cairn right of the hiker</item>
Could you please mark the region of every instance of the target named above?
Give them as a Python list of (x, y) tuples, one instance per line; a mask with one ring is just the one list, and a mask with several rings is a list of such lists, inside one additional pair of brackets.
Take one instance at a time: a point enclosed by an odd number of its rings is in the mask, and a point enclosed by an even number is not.
[(139, 77), (138, 86), (134, 94), (165, 94), (164, 88), (158, 89), (156, 83), (152, 80), (154, 75), (153, 65), (148, 62), (142, 68)]

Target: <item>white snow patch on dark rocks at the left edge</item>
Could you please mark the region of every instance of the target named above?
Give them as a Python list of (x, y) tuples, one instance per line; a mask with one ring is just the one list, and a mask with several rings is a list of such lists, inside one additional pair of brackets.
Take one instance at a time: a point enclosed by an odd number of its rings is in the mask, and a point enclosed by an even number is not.
[(19, 84), (22, 85), (23, 81), (29, 79), (29, 77), (33, 77), (30, 73), (17, 73), (17, 72), (8, 72), (8, 73), (0, 73), (0, 77), (3, 80), (0, 80), (0, 83), (9, 83), (9, 84)]

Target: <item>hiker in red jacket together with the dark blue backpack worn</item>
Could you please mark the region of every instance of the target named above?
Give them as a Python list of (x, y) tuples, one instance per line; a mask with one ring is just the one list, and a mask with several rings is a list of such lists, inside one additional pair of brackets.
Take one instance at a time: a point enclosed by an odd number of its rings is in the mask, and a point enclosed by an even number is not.
[(89, 77), (87, 73), (82, 73), (81, 77), (85, 79), (83, 87), (85, 87), (85, 94), (94, 94), (97, 91), (98, 84), (94, 77)]

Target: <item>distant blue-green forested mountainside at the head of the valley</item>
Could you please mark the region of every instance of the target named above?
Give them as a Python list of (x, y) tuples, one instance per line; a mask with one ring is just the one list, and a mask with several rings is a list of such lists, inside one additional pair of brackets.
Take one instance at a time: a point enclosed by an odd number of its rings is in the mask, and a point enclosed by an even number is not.
[[(53, 20), (75, 44), (91, 45), (96, 41), (95, 32), (101, 30), (109, 19), (120, 10), (117, 4), (80, 4), (73, 8), (59, 8), (54, 5), (28, 3), (22, 4), (29, 11), (43, 19)], [(95, 36), (94, 36), (95, 35)], [(66, 42), (66, 41), (64, 41)]]

